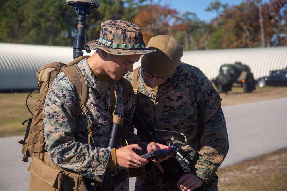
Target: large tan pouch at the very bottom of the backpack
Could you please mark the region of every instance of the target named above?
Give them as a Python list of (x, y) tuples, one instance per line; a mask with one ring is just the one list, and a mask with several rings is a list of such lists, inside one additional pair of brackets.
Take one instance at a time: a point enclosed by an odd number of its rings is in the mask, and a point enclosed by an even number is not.
[(61, 190), (63, 171), (53, 168), (37, 156), (32, 159), (27, 170), (31, 172), (30, 191)]

